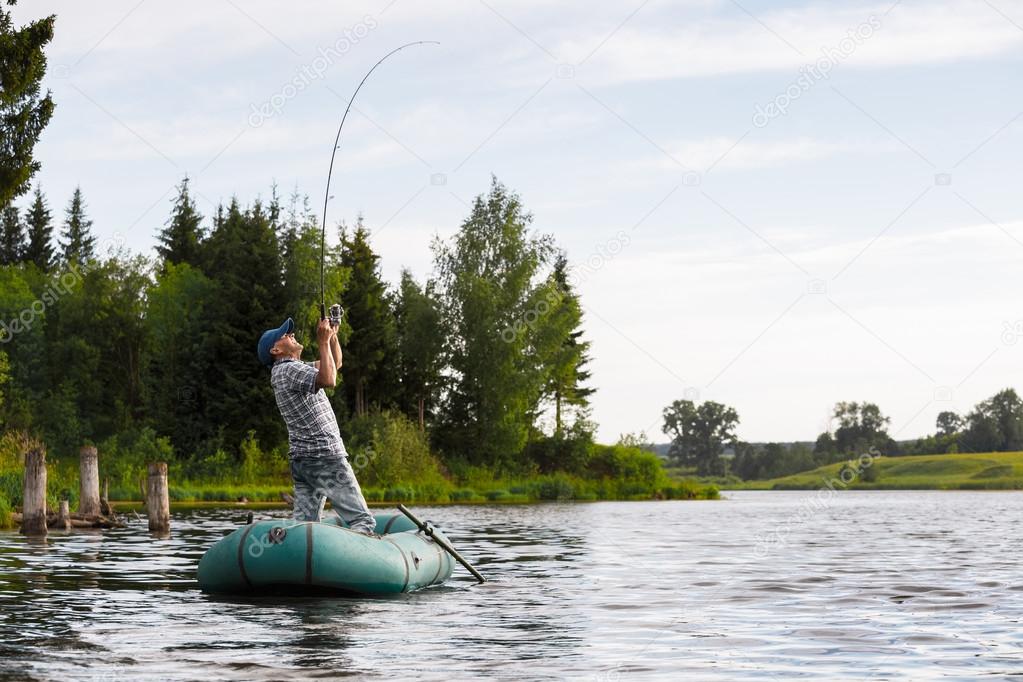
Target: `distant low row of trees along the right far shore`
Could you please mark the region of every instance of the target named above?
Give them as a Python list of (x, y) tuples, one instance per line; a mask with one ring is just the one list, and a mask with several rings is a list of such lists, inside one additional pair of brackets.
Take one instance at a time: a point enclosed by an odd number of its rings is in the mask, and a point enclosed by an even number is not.
[[(840, 402), (828, 430), (813, 443), (750, 444), (738, 438), (739, 413), (714, 401), (677, 400), (663, 412), (663, 431), (671, 437), (668, 457), (700, 475), (763, 480), (855, 458), (865, 453), (890, 457), (959, 452), (1023, 450), (1023, 400), (1014, 389), (999, 391), (964, 415), (942, 411), (935, 433), (915, 441), (895, 441), (891, 419), (870, 402)], [(722, 456), (730, 450), (730, 458)]]

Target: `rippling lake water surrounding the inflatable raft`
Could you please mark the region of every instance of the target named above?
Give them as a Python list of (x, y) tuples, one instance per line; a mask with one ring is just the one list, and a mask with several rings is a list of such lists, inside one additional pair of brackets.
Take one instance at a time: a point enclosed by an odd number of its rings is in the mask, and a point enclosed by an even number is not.
[[(742, 492), (417, 507), (491, 582), (395, 598), (195, 587), (244, 510), (0, 534), (0, 676), (25, 680), (977, 679), (1023, 673), (1023, 494)], [(257, 511), (257, 516), (283, 512)]]

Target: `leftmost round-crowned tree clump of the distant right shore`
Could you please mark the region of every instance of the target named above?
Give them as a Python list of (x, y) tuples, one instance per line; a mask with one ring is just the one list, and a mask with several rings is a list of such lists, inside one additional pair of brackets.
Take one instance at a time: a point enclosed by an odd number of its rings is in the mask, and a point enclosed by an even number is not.
[(668, 456), (684, 466), (695, 466), (699, 475), (721, 475), (725, 444), (736, 442), (739, 414), (730, 407), (705, 401), (676, 400), (664, 408), (662, 430), (671, 437)]

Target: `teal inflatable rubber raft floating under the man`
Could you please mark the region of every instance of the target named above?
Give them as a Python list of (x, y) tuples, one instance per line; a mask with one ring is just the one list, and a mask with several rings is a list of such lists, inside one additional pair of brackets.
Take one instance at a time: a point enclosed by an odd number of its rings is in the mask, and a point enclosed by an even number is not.
[(376, 533), (381, 537), (350, 531), (337, 517), (259, 520), (207, 550), (198, 562), (198, 585), (215, 594), (395, 594), (451, 577), (451, 556), (404, 515), (376, 514)]

